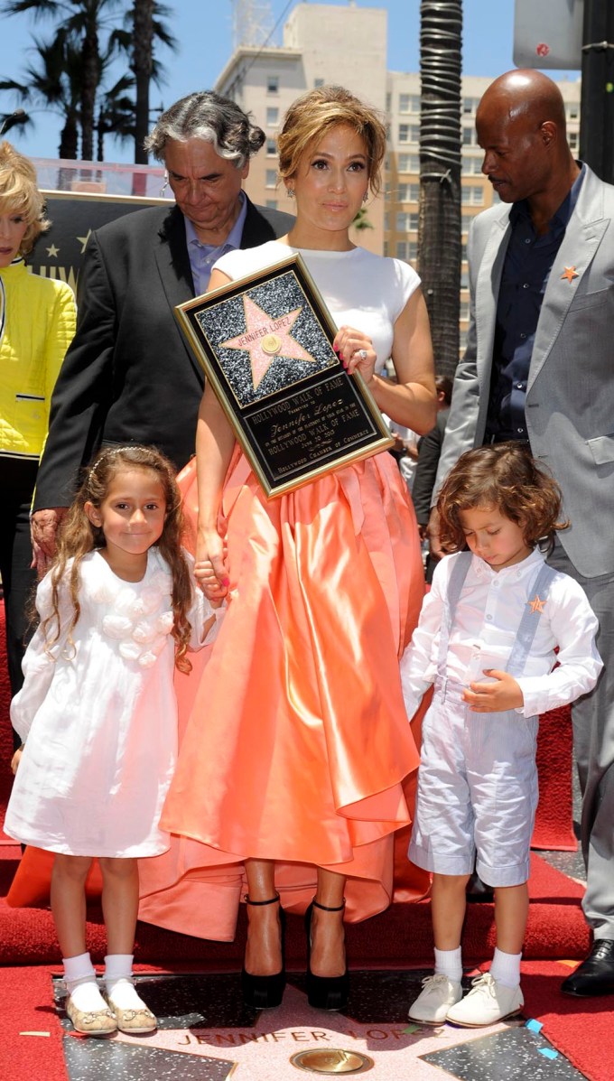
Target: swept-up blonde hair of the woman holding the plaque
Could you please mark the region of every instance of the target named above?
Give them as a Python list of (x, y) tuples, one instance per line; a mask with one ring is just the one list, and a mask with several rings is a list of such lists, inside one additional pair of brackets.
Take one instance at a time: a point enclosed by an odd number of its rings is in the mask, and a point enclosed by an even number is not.
[(371, 106), (343, 86), (318, 86), (294, 102), (283, 121), (277, 148), (282, 181), (296, 175), (298, 164), (313, 143), (339, 124), (347, 124), (364, 139), (369, 160), (369, 186), (374, 196), (381, 188), (382, 162), (386, 154), (386, 125)]

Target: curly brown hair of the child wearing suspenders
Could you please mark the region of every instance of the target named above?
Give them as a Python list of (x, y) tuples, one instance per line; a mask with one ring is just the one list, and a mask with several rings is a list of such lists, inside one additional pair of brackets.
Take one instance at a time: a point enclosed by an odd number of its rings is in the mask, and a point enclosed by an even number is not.
[(560, 521), (561, 490), (556, 480), (517, 442), (495, 443), (466, 451), (450, 471), (437, 501), (440, 539), (448, 551), (460, 551), (466, 537), (459, 512), (496, 507), (522, 529), (524, 542), (552, 543), (569, 526)]

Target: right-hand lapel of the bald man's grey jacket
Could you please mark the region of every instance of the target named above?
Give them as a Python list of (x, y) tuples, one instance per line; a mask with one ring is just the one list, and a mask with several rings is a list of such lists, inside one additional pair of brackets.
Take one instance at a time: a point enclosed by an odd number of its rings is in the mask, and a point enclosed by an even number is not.
[[(531, 357), (528, 389), (535, 382), (557, 341), (583, 275), (595, 258), (606, 228), (608, 218), (603, 216), (600, 182), (590, 170), (587, 170), (576, 209), (568, 223), (544, 294)], [(566, 268), (572, 268), (577, 277), (570, 281), (564, 276)]]

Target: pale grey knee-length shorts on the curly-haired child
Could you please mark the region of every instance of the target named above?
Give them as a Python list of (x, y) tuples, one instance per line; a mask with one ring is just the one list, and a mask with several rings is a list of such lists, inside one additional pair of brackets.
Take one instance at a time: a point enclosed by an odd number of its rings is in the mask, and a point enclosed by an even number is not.
[(425, 717), (409, 856), (438, 875), (476, 866), (488, 885), (520, 885), (537, 808), (538, 720), (472, 713), (462, 690), (437, 688)]

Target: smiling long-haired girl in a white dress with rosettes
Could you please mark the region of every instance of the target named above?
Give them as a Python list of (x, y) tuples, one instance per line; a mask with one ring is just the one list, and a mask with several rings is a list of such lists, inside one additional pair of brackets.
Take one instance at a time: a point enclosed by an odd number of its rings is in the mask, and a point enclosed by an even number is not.
[[(40, 625), (11, 707), (27, 744), (13, 760), (5, 829), (56, 853), (51, 907), (66, 1012), (91, 1036), (156, 1028), (131, 979), (136, 860), (169, 848), (158, 820), (176, 755), (173, 666), (189, 670), (186, 651), (216, 625), (192, 586), (182, 531), (173, 469), (161, 454), (118, 446), (97, 456), (38, 587)], [(85, 950), (84, 884), (95, 856), (104, 998)]]

